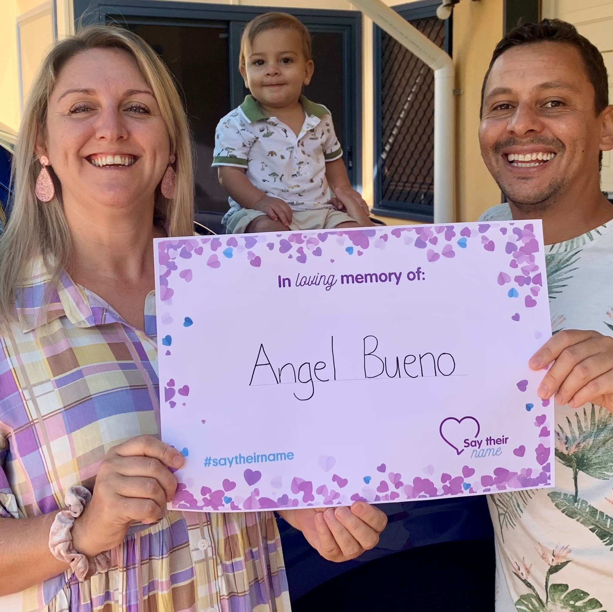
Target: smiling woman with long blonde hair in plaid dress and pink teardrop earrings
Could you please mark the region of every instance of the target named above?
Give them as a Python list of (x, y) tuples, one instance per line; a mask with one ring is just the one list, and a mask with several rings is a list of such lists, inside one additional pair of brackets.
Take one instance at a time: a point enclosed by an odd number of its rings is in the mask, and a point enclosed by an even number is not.
[[(0, 239), (0, 610), (289, 610), (275, 518), (167, 512), (153, 238), (192, 232), (188, 126), (137, 35), (51, 48)], [(205, 399), (205, 398), (204, 398)], [(327, 559), (373, 547), (362, 502), (284, 518)]]

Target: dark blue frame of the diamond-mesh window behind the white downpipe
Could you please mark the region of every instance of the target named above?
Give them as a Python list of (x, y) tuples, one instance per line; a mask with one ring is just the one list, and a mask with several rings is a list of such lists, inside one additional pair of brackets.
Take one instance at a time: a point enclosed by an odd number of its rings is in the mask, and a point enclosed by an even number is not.
[[(422, 0), (421, 2), (407, 2), (393, 6), (399, 15), (405, 20), (411, 21), (414, 19), (423, 19), (426, 17), (436, 17), (436, 9), (440, 6), (440, 0)], [(452, 57), (453, 48), (453, 15), (445, 20), (445, 47), (444, 51)], [(424, 212), (424, 205), (419, 203), (407, 203), (404, 207), (386, 206), (383, 200), (381, 189), (381, 176), (383, 171), (383, 162), (381, 155), (383, 153), (383, 125), (382, 119), (382, 79), (383, 65), (381, 62), (381, 28), (373, 24), (373, 89), (374, 89), (374, 139), (375, 139), (375, 163), (373, 168), (373, 193), (375, 196), (375, 207), (373, 213), (382, 217), (396, 217), (419, 222), (433, 222), (433, 212)]]

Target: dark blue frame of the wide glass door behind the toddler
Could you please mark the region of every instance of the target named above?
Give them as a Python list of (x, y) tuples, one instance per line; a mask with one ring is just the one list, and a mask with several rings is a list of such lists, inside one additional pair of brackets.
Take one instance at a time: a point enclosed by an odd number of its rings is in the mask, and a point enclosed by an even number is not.
[[(356, 10), (300, 9), (295, 7), (234, 6), (205, 4), (204, 2), (173, 2), (169, 0), (73, 0), (75, 23), (83, 15), (83, 25), (102, 23), (107, 18), (118, 23), (129, 20), (139, 24), (163, 24), (198, 27), (198, 21), (247, 22), (268, 10), (290, 13), (307, 26), (322, 26), (326, 31), (343, 31), (344, 70), (343, 97), (346, 100), (343, 118), (343, 160), (354, 188), (362, 186), (362, 13)], [(232, 36), (240, 29), (229, 23), (230, 35), (230, 100), (238, 106), (242, 102), (242, 78), (238, 73), (238, 58)], [(314, 100), (317, 102), (317, 100)], [(232, 108), (235, 108), (232, 106)]]

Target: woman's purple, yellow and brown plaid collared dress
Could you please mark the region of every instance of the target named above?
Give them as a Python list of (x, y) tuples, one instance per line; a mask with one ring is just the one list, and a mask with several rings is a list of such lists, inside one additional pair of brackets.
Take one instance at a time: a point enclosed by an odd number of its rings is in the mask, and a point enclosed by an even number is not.
[[(143, 333), (66, 274), (59, 290), (50, 291), (50, 280), (37, 262), (21, 296), (18, 324), (0, 336), (4, 520), (64, 507), (67, 488), (83, 484), (91, 490), (110, 447), (159, 433), (154, 294), (145, 303)], [(290, 610), (270, 512), (169, 512), (154, 525), (132, 526), (111, 553), (108, 573), (79, 583), (66, 571), (0, 597), (0, 610)]]

